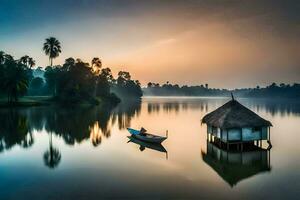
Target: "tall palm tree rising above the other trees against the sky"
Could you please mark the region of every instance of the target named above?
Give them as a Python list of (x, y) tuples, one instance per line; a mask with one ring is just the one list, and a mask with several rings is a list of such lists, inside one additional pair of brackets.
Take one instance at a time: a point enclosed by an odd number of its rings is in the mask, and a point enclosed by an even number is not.
[(49, 56), (50, 65), (53, 65), (53, 59), (59, 56), (61, 53), (60, 42), (55, 37), (49, 37), (46, 39), (43, 50), (45, 54)]

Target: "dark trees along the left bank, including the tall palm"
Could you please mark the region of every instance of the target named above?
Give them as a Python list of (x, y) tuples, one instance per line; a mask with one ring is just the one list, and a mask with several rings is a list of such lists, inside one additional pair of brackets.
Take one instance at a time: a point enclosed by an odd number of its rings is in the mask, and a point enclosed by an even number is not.
[(50, 95), (59, 102), (93, 104), (99, 99), (118, 103), (120, 98), (142, 96), (140, 82), (133, 80), (129, 72), (120, 71), (115, 79), (98, 57), (90, 63), (70, 57), (63, 65), (53, 65), (62, 52), (54, 37), (45, 40), (43, 51), (50, 63), (45, 69), (33, 69), (35, 61), (27, 55), (14, 59), (0, 51), (0, 96), (6, 97), (8, 103), (18, 102), (24, 95)]

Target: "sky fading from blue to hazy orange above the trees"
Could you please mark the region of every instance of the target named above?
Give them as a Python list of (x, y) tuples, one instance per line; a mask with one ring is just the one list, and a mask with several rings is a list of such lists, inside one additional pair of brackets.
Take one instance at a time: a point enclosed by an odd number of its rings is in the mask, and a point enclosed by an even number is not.
[(0, 0), (0, 50), (47, 66), (99, 57), (148, 82), (242, 88), (300, 82), (297, 0)]

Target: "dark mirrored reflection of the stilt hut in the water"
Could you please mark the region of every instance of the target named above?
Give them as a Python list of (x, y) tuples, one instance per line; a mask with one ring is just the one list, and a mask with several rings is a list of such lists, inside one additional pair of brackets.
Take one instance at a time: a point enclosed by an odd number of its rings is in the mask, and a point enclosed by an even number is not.
[(270, 151), (253, 146), (247, 151), (228, 151), (208, 142), (201, 152), (203, 161), (213, 168), (231, 187), (262, 172), (271, 171)]

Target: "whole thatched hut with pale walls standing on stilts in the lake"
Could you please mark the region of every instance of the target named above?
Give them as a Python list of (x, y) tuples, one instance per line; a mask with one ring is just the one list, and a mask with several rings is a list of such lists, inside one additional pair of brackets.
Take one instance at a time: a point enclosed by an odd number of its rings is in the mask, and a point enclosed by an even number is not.
[[(233, 97), (232, 100), (202, 119), (207, 124), (207, 134), (222, 144), (240, 144), (267, 140), (270, 144), (271, 122), (261, 118)], [(208, 135), (209, 136), (209, 135)]]

